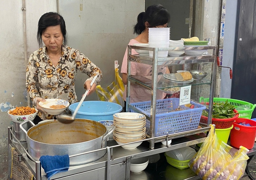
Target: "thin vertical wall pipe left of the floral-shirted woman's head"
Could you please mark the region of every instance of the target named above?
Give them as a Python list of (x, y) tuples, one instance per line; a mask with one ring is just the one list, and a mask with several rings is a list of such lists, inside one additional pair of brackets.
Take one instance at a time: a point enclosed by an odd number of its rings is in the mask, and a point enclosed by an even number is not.
[[(26, 0), (22, 0), (22, 13), (23, 13), (23, 42), (24, 42), (24, 58), (25, 58), (25, 66), (28, 64), (28, 57), (27, 57), (27, 31), (26, 31)], [(27, 101), (28, 107), (30, 107), (30, 98), (27, 93)]]

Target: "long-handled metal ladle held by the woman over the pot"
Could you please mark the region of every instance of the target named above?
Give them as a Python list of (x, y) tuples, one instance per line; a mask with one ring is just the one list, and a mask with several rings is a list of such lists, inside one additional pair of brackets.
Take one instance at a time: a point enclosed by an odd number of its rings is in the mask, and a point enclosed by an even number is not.
[[(95, 75), (95, 76), (94, 76), (94, 78), (93, 78), (93, 80), (92, 80), (92, 82), (91, 82), (91, 84), (90, 84), (90, 87), (92, 87), (92, 85), (93, 85), (93, 83), (94, 83), (94, 81), (95, 81), (95, 79), (96, 79), (97, 77), (98, 77), (98, 75)], [(74, 113), (73, 113), (72, 116), (65, 115), (65, 114), (58, 114), (58, 115), (56, 115), (57, 120), (58, 120), (59, 122), (61, 122), (61, 123), (66, 123), (66, 124), (67, 124), (67, 123), (72, 123), (73, 121), (75, 121), (75, 115), (76, 115), (76, 113), (78, 112), (80, 106), (82, 105), (83, 100), (85, 100), (85, 97), (87, 96), (88, 92), (89, 92), (89, 89), (86, 90), (86, 92), (85, 92), (85, 94), (83, 95), (83, 97), (82, 97), (81, 101), (79, 102), (78, 106), (75, 108), (75, 111), (74, 111)]]

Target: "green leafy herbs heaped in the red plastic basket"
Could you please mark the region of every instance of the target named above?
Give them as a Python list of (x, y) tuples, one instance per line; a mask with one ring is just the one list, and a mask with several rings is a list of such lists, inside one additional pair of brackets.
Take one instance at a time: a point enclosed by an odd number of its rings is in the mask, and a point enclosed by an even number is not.
[[(207, 108), (209, 109), (208, 105), (207, 105)], [(236, 114), (234, 112), (234, 109), (235, 109), (235, 106), (228, 103), (228, 100), (221, 103), (213, 103), (212, 118), (218, 118), (218, 119), (232, 118)], [(208, 111), (203, 110), (202, 115), (208, 117)]]

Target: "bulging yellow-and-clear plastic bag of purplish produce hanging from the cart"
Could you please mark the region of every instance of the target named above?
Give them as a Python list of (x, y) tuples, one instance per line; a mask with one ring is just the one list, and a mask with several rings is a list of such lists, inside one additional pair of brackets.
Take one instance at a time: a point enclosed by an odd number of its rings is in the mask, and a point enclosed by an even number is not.
[(239, 150), (218, 139), (214, 126), (199, 151), (190, 160), (189, 167), (203, 180), (238, 180), (247, 165), (247, 152), (240, 146)]

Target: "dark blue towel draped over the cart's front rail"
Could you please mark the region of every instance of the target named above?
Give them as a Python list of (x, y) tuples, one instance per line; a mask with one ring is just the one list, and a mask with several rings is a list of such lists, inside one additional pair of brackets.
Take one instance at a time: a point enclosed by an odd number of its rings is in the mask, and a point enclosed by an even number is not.
[(39, 160), (48, 180), (54, 174), (68, 171), (69, 168), (68, 154), (63, 156), (41, 156)]

